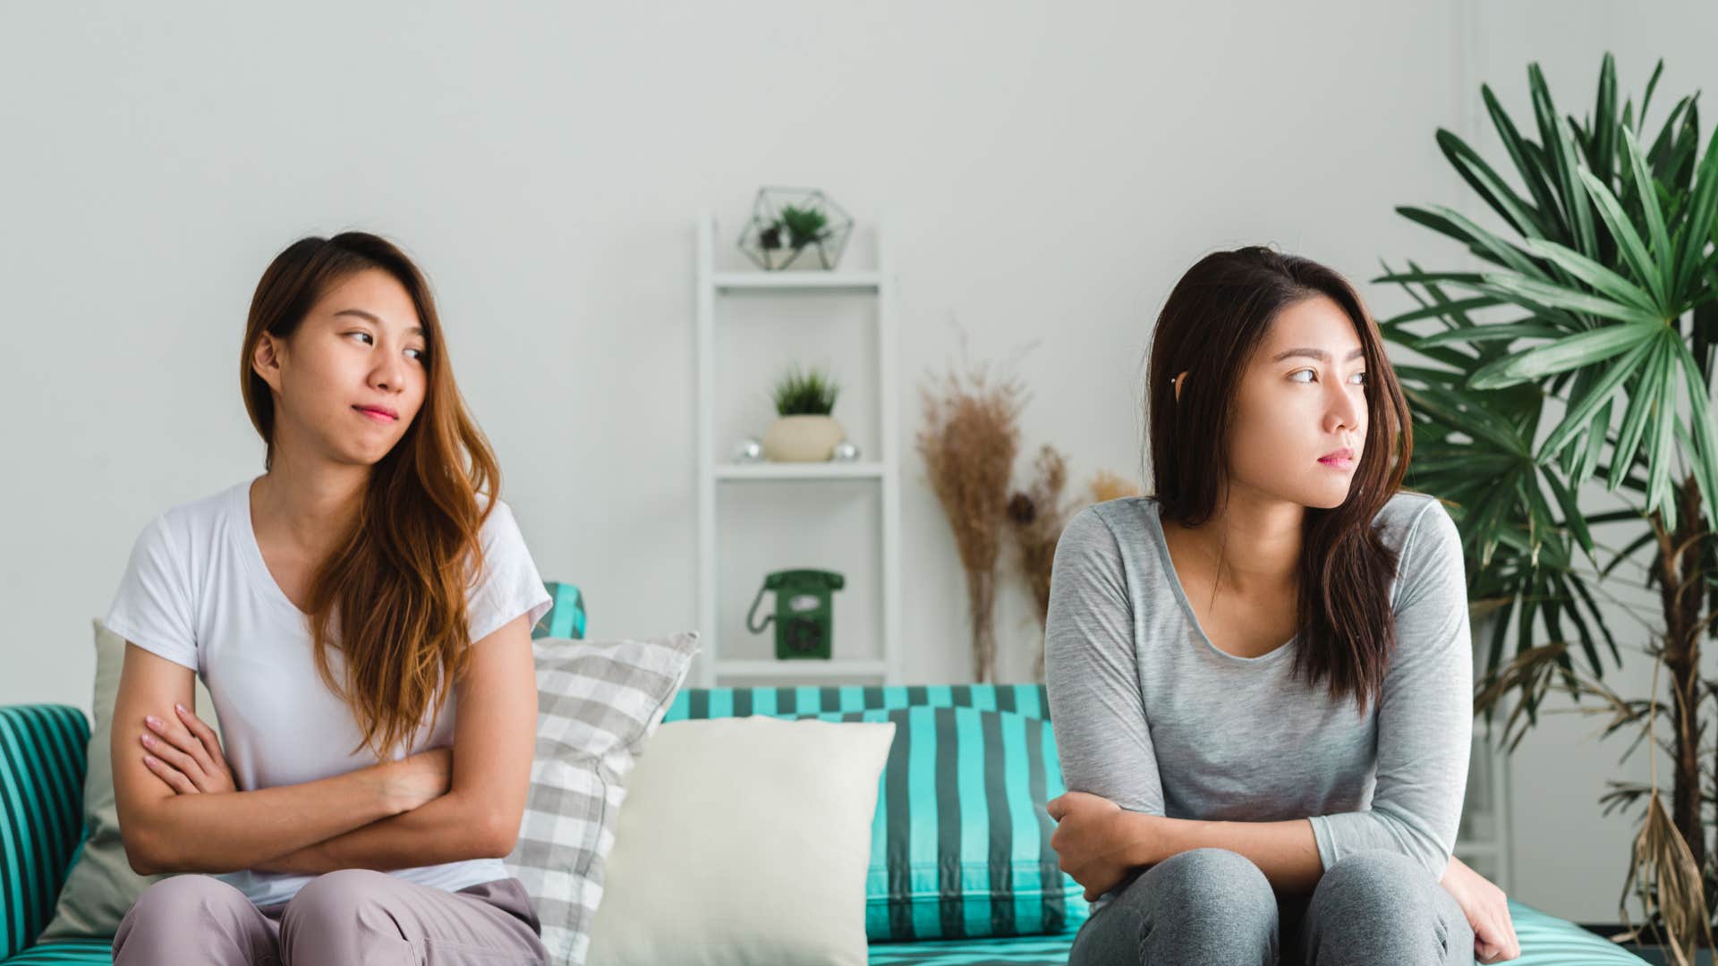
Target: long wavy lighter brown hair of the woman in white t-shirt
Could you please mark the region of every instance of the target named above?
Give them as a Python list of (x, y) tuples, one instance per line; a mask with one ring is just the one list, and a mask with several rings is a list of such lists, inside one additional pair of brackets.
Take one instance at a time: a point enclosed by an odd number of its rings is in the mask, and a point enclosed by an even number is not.
[[(466, 595), (483, 566), (479, 531), (500, 497), (502, 474), (483, 431), (454, 385), (447, 340), (423, 273), (392, 242), (344, 232), (306, 237), (275, 256), (251, 299), (239, 356), (239, 385), (251, 425), (275, 461), (275, 399), (251, 368), (263, 333), (289, 339), (332, 285), (380, 268), (405, 287), (424, 328), (424, 400), (405, 435), (371, 468), (359, 509), (316, 567), (309, 626), (316, 670), (352, 708), (369, 746), (385, 760), (411, 741), (471, 658)], [(488, 492), (479, 507), (478, 493)], [(345, 658), (337, 681), (328, 650)], [(352, 749), (352, 753), (357, 751)]]

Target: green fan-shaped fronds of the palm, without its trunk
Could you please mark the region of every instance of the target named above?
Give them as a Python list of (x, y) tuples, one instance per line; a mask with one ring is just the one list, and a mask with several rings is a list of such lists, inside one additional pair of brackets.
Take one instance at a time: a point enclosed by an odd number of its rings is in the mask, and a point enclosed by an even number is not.
[[(1477, 270), (1409, 261), (1374, 278), (1416, 303), (1380, 321), (1388, 340), (1429, 361), (1397, 366), (1414, 413), (1409, 485), (1452, 504), (1476, 612), (1496, 617), (1491, 639), (1476, 641), (1491, 674), (1514, 657), (1503, 653), (1507, 631), (1517, 633), (1517, 655), (1567, 643), (1565, 672), (1569, 655), (1593, 676), (1620, 663), (1594, 603), (1610, 569), (1579, 498), (1594, 476), (1634, 504), (1606, 523), (1656, 519), (1672, 531), (1685, 490), (1697, 488), (1703, 547), (1713, 543), (1718, 139), (1701, 153), (1697, 95), (1648, 136), (1661, 72), (1663, 64), (1636, 112), (1632, 100), (1618, 103), (1606, 55), (1593, 112), (1577, 120), (1558, 112), (1531, 65), (1529, 127), (1483, 86), (1507, 165), (1450, 131), (1436, 141), (1484, 203), (1484, 223), (1445, 205), (1397, 208), (1460, 246)], [(1610, 567), (1654, 545), (1624, 543), (1629, 553)], [(1534, 694), (1520, 691), (1529, 717)]]

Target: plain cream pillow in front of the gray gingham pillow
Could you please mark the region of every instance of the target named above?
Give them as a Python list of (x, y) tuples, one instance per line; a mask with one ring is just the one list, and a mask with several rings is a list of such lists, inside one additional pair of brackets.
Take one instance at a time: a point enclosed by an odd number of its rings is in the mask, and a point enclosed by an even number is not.
[(864, 887), (893, 722), (656, 729), (627, 779), (589, 963), (866, 966)]

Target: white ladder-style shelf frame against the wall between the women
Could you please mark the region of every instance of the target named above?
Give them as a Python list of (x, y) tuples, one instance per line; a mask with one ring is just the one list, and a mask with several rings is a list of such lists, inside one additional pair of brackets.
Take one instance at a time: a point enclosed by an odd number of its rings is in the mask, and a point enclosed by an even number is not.
[[(751, 679), (819, 679), (830, 684), (900, 684), (900, 459), (895, 392), (895, 275), (883, 225), (876, 225), (874, 272), (716, 272), (716, 222), (703, 211), (698, 218), (698, 626), (703, 653), (698, 681), (704, 688)], [(878, 440), (869, 462), (754, 462), (718, 461), (734, 440), (715, 438), (716, 407), (716, 299), (722, 296), (770, 297), (771, 294), (868, 296), (876, 303), (878, 352)], [(871, 447), (866, 447), (871, 449)], [(722, 526), (722, 486), (816, 485), (826, 481), (874, 481), (881, 488), (880, 541), (881, 643), (880, 657), (861, 660), (732, 660), (722, 651), (716, 605), (718, 550), (727, 540)], [(837, 653), (845, 641), (837, 641)]]

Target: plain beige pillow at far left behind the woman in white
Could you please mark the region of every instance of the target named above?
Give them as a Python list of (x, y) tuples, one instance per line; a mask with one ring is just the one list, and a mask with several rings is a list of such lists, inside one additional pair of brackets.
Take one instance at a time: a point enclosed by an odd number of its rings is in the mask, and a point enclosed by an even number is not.
[[(125, 638), (107, 629), (101, 619), (91, 621), (96, 631), (96, 691), (91, 701), (94, 724), (89, 729), (89, 768), (84, 772), (84, 844), (72, 861), (72, 870), (60, 889), (60, 904), (53, 921), (41, 938), (112, 937), (131, 904), (151, 883), (165, 875), (137, 875), (125, 859), (125, 844), (119, 837), (119, 806), (113, 804), (113, 765), (108, 756), (113, 729), (113, 698), (119, 694), (119, 672), (125, 663)], [(208, 688), (196, 677), (192, 712), (215, 734), (215, 705)], [(167, 708), (170, 710), (170, 708)], [(143, 755), (143, 746), (137, 746)]]

